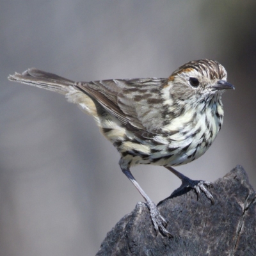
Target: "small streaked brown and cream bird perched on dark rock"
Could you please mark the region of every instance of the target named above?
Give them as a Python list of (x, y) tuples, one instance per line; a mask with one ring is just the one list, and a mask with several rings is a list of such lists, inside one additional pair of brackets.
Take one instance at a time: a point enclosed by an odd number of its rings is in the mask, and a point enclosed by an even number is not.
[(212, 145), (223, 124), (221, 96), (234, 89), (215, 60), (189, 61), (168, 78), (109, 79), (75, 82), (29, 68), (10, 81), (58, 92), (93, 116), (102, 134), (120, 153), (119, 165), (145, 199), (156, 233), (173, 237), (167, 221), (131, 173), (137, 164), (164, 166), (185, 187), (203, 191), (214, 204), (205, 180), (192, 180), (173, 166), (190, 163)]

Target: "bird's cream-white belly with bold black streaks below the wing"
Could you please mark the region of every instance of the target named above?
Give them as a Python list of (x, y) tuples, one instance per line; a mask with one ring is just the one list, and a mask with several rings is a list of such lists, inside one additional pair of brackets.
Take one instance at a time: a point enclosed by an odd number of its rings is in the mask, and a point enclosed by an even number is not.
[(100, 126), (104, 136), (113, 143), (129, 166), (136, 164), (177, 166), (202, 156), (216, 138), (219, 120), (207, 115), (202, 119), (207, 122), (196, 122), (193, 129), (191, 126), (182, 126), (178, 132), (169, 136), (162, 133), (150, 138), (136, 136), (136, 133), (127, 131), (116, 120), (105, 121), (104, 125), (101, 122)]

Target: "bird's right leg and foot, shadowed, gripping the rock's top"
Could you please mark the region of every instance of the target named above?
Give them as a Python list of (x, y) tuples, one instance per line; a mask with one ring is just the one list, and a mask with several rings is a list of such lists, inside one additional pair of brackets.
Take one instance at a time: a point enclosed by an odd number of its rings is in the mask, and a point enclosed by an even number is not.
[(211, 182), (205, 181), (205, 180), (191, 180), (188, 177), (186, 177), (185, 175), (183, 175), (182, 173), (177, 172), (171, 166), (164, 166), (164, 167), (166, 169), (168, 169), (169, 171), (171, 171), (172, 173), (174, 173), (177, 177), (179, 177), (179, 179), (182, 182), (180, 187), (175, 189), (175, 191), (173, 191), (172, 195), (174, 195), (175, 193), (181, 191), (184, 188), (191, 187), (191, 188), (195, 189), (197, 195), (199, 195), (200, 194), (200, 190), (202, 190), (205, 193), (205, 195), (207, 196), (207, 198), (209, 198), (211, 200), (212, 204), (214, 204), (213, 196), (205, 188), (205, 186), (213, 186)]

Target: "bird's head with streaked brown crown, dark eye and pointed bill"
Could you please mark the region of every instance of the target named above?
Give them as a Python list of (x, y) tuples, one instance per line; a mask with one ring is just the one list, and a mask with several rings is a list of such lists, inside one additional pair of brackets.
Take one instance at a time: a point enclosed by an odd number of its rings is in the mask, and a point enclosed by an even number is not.
[(234, 86), (227, 82), (227, 71), (214, 60), (189, 61), (175, 70), (168, 78), (172, 98), (212, 99)]

